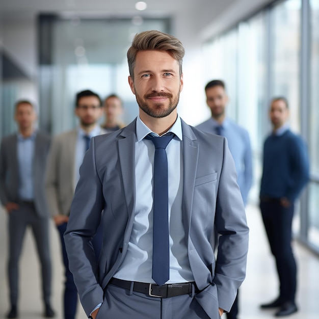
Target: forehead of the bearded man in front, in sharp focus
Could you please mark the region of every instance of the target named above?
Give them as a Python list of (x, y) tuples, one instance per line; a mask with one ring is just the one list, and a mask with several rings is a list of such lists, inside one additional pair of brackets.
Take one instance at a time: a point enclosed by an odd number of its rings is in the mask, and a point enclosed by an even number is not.
[(136, 56), (135, 72), (179, 70), (177, 60), (168, 51), (143, 50)]

